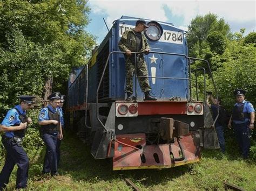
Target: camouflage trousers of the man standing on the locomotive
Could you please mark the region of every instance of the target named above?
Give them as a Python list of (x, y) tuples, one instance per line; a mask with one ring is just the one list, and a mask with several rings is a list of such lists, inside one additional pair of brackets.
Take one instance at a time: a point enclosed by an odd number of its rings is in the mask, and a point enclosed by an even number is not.
[[(133, 56), (133, 55), (132, 55)], [(131, 60), (131, 57), (126, 59), (125, 63), (125, 69), (126, 69), (126, 93), (133, 93), (133, 81), (132, 77), (135, 72), (135, 65), (133, 61)], [(148, 76), (149, 73), (147, 72), (147, 65), (144, 60), (143, 56), (138, 56), (137, 58), (137, 76)], [(142, 89), (143, 92), (150, 91), (151, 87), (149, 85), (149, 79), (147, 77), (139, 77), (138, 78), (140, 89)]]

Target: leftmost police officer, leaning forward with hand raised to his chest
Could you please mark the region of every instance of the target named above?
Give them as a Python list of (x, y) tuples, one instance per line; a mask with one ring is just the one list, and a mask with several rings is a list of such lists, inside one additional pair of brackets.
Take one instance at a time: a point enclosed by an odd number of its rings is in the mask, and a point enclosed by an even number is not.
[(34, 96), (20, 96), (21, 102), (7, 112), (1, 129), (4, 131), (2, 143), (7, 155), (0, 175), (0, 190), (3, 190), (9, 182), (9, 178), (15, 164), (18, 166), (16, 188), (26, 188), (29, 173), (29, 158), (22, 147), (22, 140), (26, 133), (31, 118), (26, 116), (26, 110), (30, 109)]

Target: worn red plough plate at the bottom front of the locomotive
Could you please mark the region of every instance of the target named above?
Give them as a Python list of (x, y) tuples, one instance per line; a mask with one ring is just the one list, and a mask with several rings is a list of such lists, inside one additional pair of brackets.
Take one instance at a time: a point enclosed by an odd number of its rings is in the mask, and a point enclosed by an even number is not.
[[(140, 138), (141, 143), (132, 142), (132, 136), (134, 139)], [(122, 140), (125, 144), (134, 147), (140, 146), (141, 149), (136, 150), (130, 146), (115, 142), (113, 170), (171, 168), (200, 160), (199, 148), (194, 145), (190, 133), (179, 138), (181, 146), (179, 145), (178, 140), (175, 140), (172, 144), (146, 145), (145, 134), (118, 135), (117, 140)], [(122, 150), (118, 149), (120, 145), (122, 145)], [(180, 158), (181, 148), (183, 150), (184, 159)]]

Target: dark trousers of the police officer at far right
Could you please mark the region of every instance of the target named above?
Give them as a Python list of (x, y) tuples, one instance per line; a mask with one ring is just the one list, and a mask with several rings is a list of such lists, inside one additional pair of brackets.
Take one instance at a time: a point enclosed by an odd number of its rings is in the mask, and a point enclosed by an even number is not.
[(243, 158), (248, 158), (250, 151), (250, 137), (249, 132), (250, 129), (248, 127), (248, 122), (242, 124), (233, 124), (235, 137), (237, 138), (237, 142), (240, 148), (240, 152), (242, 153)]

